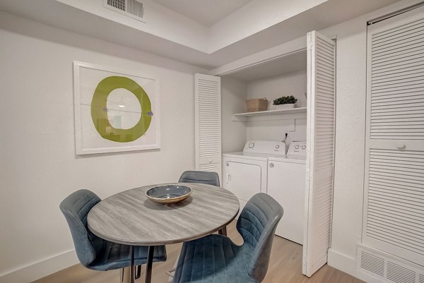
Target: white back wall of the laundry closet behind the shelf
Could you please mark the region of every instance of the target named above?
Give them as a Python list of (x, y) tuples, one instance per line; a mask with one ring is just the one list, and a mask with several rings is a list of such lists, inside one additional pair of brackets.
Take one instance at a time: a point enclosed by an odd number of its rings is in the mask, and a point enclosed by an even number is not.
[[(298, 98), (296, 107), (306, 107), (306, 70), (287, 73), (283, 76), (253, 80), (247, 83), (247, 99), (266, 97), (268, 109), (274, 110), (273, 100), (285, 95)], [(269, 116), (271, 118), (271, 116)], [(292, 119), (289, 115), (274, 115), (278, 120), (250, 121), (247, 123), (247, 140), (306, 140), (306, 112), (304, 119)]]

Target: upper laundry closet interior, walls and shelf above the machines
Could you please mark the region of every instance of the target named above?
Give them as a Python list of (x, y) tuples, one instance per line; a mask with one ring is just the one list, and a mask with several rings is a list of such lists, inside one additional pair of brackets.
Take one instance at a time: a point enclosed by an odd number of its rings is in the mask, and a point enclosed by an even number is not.
[[(306, 140), (307, 54), (294, 54), (221, 76), (223, 153), (241, 151), (247, 140)], [(273, 112), (277, 97), (293, 95), (295, 109)], [(268, 100), (266, 112), (247, 112), (246, 101)]]

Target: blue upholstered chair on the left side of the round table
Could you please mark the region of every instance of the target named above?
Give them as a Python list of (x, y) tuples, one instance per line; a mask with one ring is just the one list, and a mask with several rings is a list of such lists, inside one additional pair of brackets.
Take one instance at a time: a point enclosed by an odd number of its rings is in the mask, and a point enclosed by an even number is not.
[[(71, 230), (73, 245), (81, 264), (92, 270), (115, 270), (129, 267), (129, 246), (112, 243), (95, 236), (87, 227), (87, 215), (91, 208), (100, 202), (95, 193), (88, 190), (79, 190), (71, 193), (59, 205), (66, 222)], [(134, 248), (134, 263), (147, 263), (147, 246)], [(156, 246), (153, 261), (165, 261), (165, 246)]]

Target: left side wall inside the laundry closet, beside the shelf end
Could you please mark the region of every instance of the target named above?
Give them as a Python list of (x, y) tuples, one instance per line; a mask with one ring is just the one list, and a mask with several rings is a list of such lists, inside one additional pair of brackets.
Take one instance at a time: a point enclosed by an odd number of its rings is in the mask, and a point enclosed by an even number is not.
[(222, 150), (242, 151), (246, 143), (246, 127), (240, 122), (231, 121), (232, 114), (246, 111), (246, 83), (229, 76), (221, 78)]

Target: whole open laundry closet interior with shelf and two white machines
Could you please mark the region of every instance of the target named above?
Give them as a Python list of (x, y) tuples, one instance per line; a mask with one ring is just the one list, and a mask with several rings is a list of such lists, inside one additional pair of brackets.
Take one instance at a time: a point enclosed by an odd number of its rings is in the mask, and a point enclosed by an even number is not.
[[(300, 244), (305, 205), (306, 64), (306, 50), (301, 49), (221, 77), (222, 112), (231, 115), (222, 121), (221, 186), (237, 195), (240, 210), (256, 193), (271, 195), (285, 209), (276, 235)], [(276, 110), (273, 100), (289, 95), (298, 100), (296, 107)], [(237, 100), (226, 102), (228, 97)], [(254, 99), (268, 104), (266, 109), (246, 112), (245, 102)], [(237, 104), (242, 104), (242, 113), (232, 113), (239, 108)], [(242, 134), (235, 135), (235, 128)], [(240, 143), (241, 147), (228, 151), (225, 142)], [(298, 147), (297, 152), (290, 150), (298, 153), (294, 158), (285, 155), (288, 145)]]

